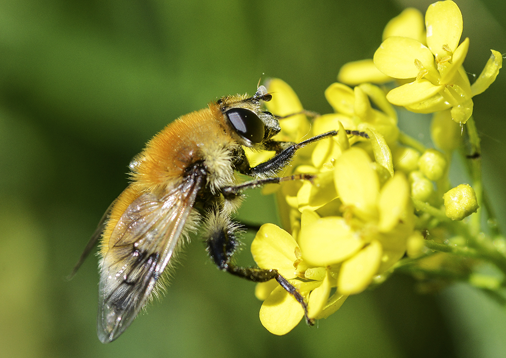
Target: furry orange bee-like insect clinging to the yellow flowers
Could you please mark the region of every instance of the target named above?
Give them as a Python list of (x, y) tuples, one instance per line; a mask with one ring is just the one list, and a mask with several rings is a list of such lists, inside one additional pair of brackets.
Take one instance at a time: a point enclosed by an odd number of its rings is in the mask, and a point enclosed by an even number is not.
[[(134, 158), (131, 184), (106, 211), (74, 269), (101, 238), (97, 331), (103, 343), (130, 326), (181, 242), (199, 226), (219, 269), (254, 282), (275, 279), (301, 303), (307, 323), (313, 324), (304, 298), (277, 270), (231, 263), (239, 244), (238, 224), (231, 216), (242, 191), (266, 183), (312, 180), (309, 174), (276, 174), (299, 148), (337, 134), (331, 131), (300, 143), (273, 140), (281, 130), (279, 121), (261, 109), (262, 101), (271, 99), (264, 86), (251, 97), (222, 97), (167, 125)], [(244, 147), (273, 150), (275, 155), (251, 167)], [(252, 179), (238, 183), (235, 172)]]

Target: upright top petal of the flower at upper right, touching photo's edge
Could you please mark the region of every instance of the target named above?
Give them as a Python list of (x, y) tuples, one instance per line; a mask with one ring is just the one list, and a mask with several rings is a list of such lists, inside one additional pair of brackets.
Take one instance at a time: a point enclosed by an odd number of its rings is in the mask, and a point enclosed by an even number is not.
[(429, 6), (425, 13), (427, 27), (427, 46), (434, 55), (447, 56), (443, 45), (447, 45), (452, 52), (458, 46), (462, 34), (462, 14), (458, 6), (448, 0), (439, 1)]

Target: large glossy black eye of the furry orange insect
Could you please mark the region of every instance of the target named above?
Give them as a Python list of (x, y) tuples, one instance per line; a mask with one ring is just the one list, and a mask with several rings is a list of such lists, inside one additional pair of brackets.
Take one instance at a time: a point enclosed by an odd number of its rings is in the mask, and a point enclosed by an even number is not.
[(257, 144), (264, 139), (264, 123), (254, 112), (245, 108), (232, 108), (225, 115), (234, 131), (246, 140), (244, 145)]

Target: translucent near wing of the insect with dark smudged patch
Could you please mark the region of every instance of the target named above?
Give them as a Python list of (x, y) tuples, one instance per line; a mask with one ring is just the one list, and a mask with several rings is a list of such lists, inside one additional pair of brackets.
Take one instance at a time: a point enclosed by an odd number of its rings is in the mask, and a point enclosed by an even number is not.
[(205, 176), (193, 173), (162, 197), (147, 192), (124, 211), (101, 262), (97, 332), (111, 342), (130, 326), (172, 257)]

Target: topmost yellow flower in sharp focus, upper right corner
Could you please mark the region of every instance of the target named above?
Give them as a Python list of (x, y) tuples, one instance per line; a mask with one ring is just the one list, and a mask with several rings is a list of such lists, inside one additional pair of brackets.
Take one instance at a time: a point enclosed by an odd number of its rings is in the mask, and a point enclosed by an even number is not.
[(419, 39), (391, 36), (374, 54), (374, 64), (384, 74), (409, 83), (391, 90), (387, 99), (419, 113), (449, 110), (457, 123), (466, 123), (473, 113), (472, 97), (486, 90), (502, 66), (501, 55), (492, 50), (480, 81), (471, 86), (462, 67), (469, 38), (460, 45), (462, 15), (450, 1), (429, 6), (425, 23), (425, 46)]

